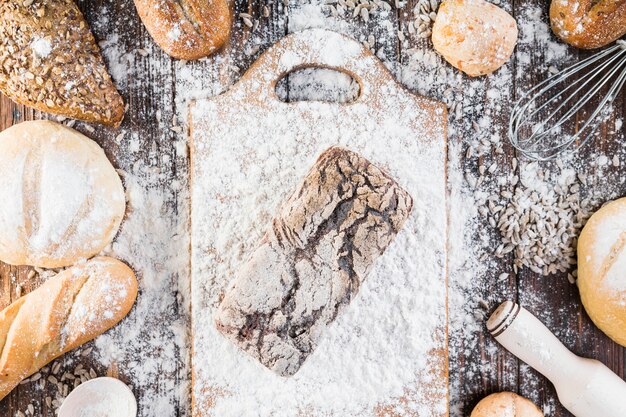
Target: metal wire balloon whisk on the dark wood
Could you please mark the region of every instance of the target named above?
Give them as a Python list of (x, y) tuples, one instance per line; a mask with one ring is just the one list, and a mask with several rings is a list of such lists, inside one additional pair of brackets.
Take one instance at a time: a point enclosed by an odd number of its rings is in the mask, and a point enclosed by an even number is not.
[[(602, 124), (626, 82), (626, 40), (551, 76), (524, 94), (509, 122), (509, 139), (523, 155), (540, 161), (583, 146)], [(575, 120), (578, 111), (599, 98), (591, 115)], [(570, 124), (575, 122), (576, 124)], [(568, 132), (567, 129), (575, 129)]]

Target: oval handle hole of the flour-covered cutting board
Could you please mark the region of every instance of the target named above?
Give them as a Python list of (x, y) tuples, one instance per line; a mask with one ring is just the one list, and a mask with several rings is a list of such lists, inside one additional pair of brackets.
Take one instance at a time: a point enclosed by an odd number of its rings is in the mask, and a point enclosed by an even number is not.
[(305, 67), (285, 74), (276, 83), (280, 101), (322, 101), (352, 103), (361, 95), (361, 85), (350, 74), (341, 70)]

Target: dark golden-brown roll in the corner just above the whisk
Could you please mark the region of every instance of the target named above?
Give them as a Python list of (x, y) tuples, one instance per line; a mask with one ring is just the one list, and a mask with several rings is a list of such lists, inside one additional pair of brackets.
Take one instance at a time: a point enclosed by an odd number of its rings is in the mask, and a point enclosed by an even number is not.
[(626, 34), (626, 0), (552, 0), (550, 22), (565, 42), (599, 48)]

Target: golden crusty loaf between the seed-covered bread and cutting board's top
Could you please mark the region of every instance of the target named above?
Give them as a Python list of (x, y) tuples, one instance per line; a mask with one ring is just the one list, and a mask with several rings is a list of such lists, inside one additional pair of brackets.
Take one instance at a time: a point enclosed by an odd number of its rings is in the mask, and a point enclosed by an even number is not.
[(152, 38), (174, 58), (208, 56), (230, 37), (227, 0), (135, 0), (135, 6)]

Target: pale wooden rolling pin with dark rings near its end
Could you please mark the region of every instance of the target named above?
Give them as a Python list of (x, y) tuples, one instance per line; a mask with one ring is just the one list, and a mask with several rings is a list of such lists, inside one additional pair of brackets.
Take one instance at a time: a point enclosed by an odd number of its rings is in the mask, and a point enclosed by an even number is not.
[(487, 329), (552, 381), (559, 400), (576, 417), (626, 416), (626, 382), (601, 362), (574, 355), (526, 309), (504, 302), (487, 321)]

